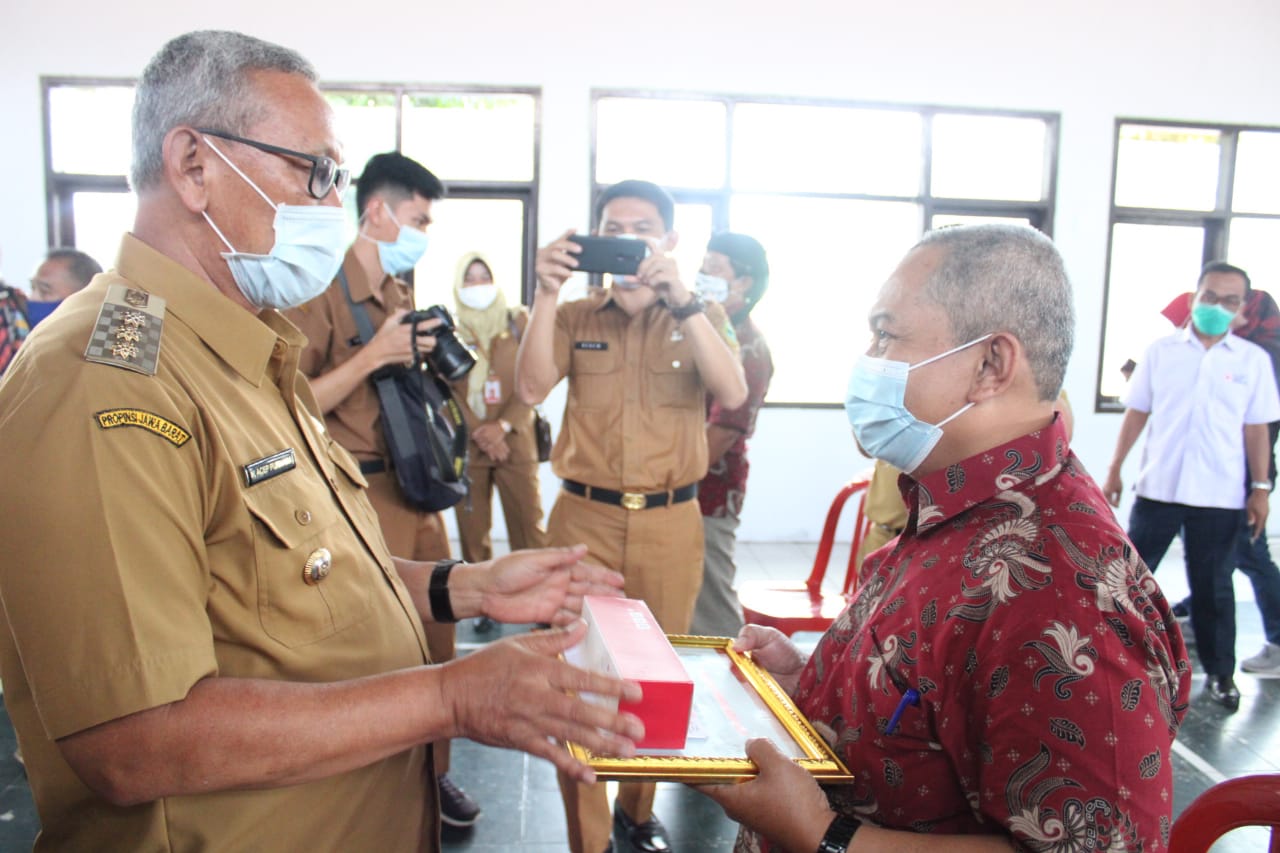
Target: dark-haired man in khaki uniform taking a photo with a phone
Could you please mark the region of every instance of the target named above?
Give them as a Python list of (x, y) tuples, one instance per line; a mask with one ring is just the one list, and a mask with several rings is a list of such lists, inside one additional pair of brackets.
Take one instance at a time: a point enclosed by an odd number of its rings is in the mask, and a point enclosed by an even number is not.
[[(568, 402), (552, 469), (563, 489), (552, 508), (552, 544), (588, 543), (593, 560), (621, 571), (667, 633), (684, 633), (701, 585), (698, 482), (707, 474), (707, 393), (735, 409), (746, 382), (732, 327), (704, 305), (672, 257), (675, 202), (660, 187), (625, 181), (602, 193), (602, 236), (649, 245), (636, 275), (558, 306), (577, 266), (566, 232), (538, 251), (538, 293), (516, 369), (521, 396), (541, 402), (568, 377)], [(561, 777), (575, 853), (611, 849), (612, 825), (631, 849), (669, 849), (653, 816), (654, 785), (622, 785), (611, 822), (603, 785)]]

